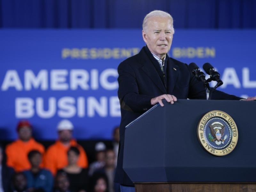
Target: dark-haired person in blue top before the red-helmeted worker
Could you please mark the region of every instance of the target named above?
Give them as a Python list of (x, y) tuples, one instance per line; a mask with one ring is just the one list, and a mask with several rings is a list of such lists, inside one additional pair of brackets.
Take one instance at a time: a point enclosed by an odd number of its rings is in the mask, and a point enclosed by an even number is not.
[(41, 169), (42, 154), (38, 150), (32, 150), (28, 153), (28, 160), (31, 169), (24, 171), (27, 179), (27, 188), (29, 191), (51, 192), (53, 188), (52, 173), (46, 169)]

